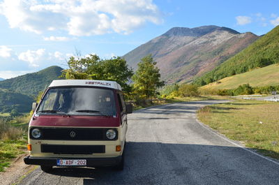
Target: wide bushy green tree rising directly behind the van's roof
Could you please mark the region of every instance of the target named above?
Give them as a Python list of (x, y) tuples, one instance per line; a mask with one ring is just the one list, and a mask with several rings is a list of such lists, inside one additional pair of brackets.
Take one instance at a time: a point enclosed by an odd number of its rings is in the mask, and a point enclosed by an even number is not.
[(69, 68), (62, 71), (66, 79), (110, 80), (118, 82), (124, 94), (131, 91), (128, 81), (133, 76), (133, 70), (128, 68), (127, 62), (121, 57), (100, 59), (96, 54), (88, 57), (70, 57)]

